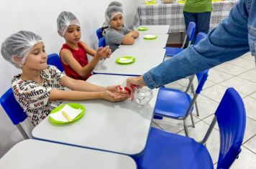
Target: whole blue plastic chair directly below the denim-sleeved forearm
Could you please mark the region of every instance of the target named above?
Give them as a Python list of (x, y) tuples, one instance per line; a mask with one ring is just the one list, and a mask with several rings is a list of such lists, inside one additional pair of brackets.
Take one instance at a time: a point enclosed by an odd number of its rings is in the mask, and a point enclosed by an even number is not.
[(190, 115), (192, 125), (193, 127), (195, 127), (192, 115), (193, 105), (204, 87), (204, 84), (208, 77), (208, 72), (209, 70), (207, 69), (204, 72), (199, 72), (198, 74), (196, 74), (196, 77), (198, 79), (198, 86), (196, 88), (195, 95), (193, 95), (193, 98), (188, 95), (187, 92), (190, 89), (191, 84), (193, 83), (193, 78), (195, 77), (195, 75), (191, 76), (190, 82), (185, 92), (160, 87), (157, 95), (157, 101), (155, 103), (155, 115), (169, 117), (176, 120), (183, 120), (184, 130), (186, 136), (188, 136), (186, 118), (188, 117), (188, 115)]

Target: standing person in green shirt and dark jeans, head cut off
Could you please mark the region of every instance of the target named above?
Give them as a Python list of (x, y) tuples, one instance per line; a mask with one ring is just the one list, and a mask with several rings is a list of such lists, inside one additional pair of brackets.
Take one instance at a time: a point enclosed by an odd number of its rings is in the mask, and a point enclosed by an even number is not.
[(196, 23), (196, 34), (198, 32), (208, 34), (211, 11), (211, 0), (186, 0), (183, 9), (186, 29), (188, 29), (188, 23), (193, 21)]

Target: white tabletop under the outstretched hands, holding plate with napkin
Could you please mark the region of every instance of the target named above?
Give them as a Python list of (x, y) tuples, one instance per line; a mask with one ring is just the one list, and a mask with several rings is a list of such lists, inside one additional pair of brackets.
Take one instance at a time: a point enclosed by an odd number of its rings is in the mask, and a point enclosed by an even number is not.
[[(108, 86), (122, 84), (125, 79), (125, 76), (94, 74), (87, 81)], [(126, 155), (139, 154), (147, 142), (157, 92), (153, 90), (154, 97), (143, 107), (131, 100), (115, 103), (104, 100), (77, 102), (86, 108), (80, 120), (67, 125), (54, 125), (46, 118), (35, 127), (32, 136), (83, 148)]]

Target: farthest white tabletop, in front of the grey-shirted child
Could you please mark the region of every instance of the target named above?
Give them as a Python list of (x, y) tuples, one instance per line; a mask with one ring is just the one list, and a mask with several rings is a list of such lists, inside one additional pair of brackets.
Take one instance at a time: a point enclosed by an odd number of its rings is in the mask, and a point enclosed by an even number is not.
[[(168, 34), (170, 25), (141, 25), (147, 27), (146, 31), (137, 31), (140, 34)], [(141, 27), (139, 26), (139, 27)]]

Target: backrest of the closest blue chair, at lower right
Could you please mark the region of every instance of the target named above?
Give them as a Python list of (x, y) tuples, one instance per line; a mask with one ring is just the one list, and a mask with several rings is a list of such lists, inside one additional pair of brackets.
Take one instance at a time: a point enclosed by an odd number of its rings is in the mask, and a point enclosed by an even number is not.
[(241, 151), (246, 125), (244, 103), (234, 88), (225, 92), (215, 115), (221, 140), (217, 168), (229, 168)]

